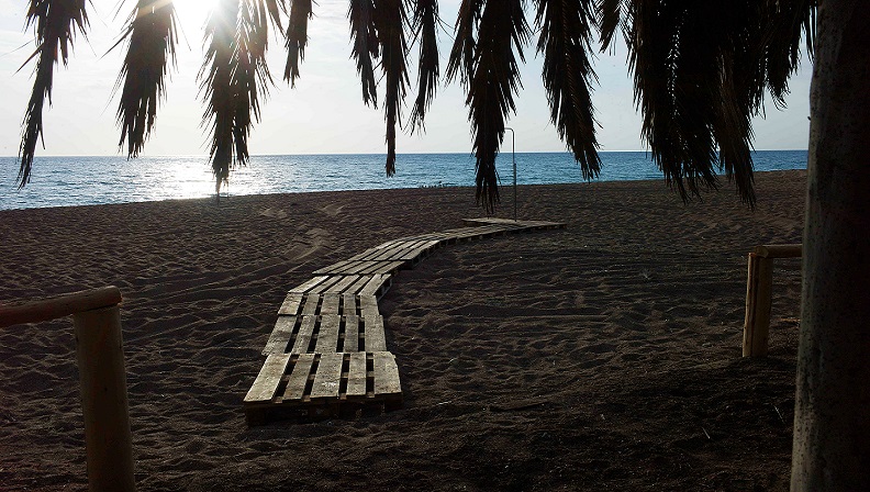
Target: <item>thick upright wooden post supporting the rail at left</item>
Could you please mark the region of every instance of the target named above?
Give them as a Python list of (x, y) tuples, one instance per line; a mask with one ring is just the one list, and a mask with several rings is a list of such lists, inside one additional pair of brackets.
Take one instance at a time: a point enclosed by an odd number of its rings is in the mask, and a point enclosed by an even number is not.
[(88, 484), (93, 492), (133, 491), (133, 446), (118, 305), (75, 313), (85, 414)]

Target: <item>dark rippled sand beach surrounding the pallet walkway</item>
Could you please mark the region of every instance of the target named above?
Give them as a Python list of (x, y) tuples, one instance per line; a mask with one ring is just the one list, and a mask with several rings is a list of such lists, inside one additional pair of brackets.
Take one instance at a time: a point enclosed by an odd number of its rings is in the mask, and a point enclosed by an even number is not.
[[(404, 407), (356, 420), (245, 424), (287, 290), (481, 216), (472, 189), (0, 211), (0, 303), (121, 289), (142, 491), (784, 491), (800, 260), (749, 360), (746, 254), (801, 242), (805, 177), (758, 174), (755, 212), (729, 186), (521, 187), (521, 219), (567, 228), (402, 270), (379, 305)], [(71, 321), (0, 329), (0, 490), (86, 490), (82, 425)]]

